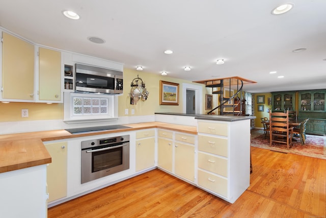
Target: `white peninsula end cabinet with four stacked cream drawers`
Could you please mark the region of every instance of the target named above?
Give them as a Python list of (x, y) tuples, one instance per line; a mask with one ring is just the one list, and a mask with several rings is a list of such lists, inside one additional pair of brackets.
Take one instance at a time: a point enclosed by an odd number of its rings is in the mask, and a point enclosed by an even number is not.
[(198, 186), (234, 203), (250, 184), (250, 119), (198, 120)]

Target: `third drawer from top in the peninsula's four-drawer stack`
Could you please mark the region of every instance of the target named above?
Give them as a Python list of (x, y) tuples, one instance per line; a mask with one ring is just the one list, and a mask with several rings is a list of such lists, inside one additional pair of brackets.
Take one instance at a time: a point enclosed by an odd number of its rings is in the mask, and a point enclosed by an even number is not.
[(198, 167), (228, 177), (228, 160), (198, 152)]

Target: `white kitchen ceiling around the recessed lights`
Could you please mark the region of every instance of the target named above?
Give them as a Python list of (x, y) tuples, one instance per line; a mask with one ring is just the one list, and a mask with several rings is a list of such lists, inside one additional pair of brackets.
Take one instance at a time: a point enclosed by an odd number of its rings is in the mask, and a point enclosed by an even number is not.
[[(288, 13), (270, 13), (288, 2), (294, 4)], [(141, 65), (188, 81), (238, 76), (257, 82), (244, 85), (253, 93), (326, 88), (325, 0), (0, 0), (0, 6), (0, 26), (8, 31), (125, 68)], [(299, 48), (307, 50), (292, 52)], [(220, 58), (224, 65), (215, 63)], [(191, 71), (183, 70), (187, 65)]]

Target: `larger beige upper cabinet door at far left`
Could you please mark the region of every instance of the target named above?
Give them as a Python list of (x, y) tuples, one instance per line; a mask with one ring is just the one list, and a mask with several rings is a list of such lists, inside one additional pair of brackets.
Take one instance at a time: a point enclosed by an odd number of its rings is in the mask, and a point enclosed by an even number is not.
[(3, 32), (2, 98), (34, 100), (34, 45)]

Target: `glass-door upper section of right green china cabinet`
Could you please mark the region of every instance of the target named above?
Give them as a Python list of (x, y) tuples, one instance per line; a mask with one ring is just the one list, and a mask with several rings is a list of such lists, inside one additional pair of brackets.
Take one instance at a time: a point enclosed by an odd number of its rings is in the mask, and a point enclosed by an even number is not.
[(306, 90), (299, 92), (299, 110), (309, 112), (325, 111), (325, 90)]

